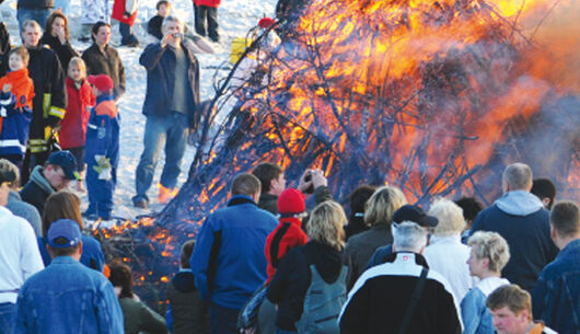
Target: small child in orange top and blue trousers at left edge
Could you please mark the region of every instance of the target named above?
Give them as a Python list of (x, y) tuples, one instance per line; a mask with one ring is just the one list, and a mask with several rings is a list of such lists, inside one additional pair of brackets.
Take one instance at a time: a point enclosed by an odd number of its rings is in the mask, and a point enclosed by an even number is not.
[(34, 85), (28, 77), (28, 51), (20, 46), (8, 55), (10, 71), (0, 78), (0, 158), (22, 168), (32, 119)]

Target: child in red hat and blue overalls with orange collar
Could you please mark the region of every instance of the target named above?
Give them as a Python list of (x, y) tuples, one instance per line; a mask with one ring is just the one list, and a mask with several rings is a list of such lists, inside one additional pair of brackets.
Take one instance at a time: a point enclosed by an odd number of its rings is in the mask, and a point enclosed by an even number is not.
[(119, 160), (119, 117), (111, 77), (98, 74), (86, 80), (93, 87), (96, 105), (91, 110), (86, 129), (89, 208), (84, 216), (109, 220)]

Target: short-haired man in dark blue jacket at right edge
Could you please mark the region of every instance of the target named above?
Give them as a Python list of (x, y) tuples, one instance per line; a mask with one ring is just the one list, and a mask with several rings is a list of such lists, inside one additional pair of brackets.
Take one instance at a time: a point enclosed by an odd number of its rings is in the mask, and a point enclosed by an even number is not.
[(549, 214), (552, 239), (560, 249), (536, 283), (534, 319), (558, 333), (580, 333), (580, 209), (573, 201), (556, 203)]

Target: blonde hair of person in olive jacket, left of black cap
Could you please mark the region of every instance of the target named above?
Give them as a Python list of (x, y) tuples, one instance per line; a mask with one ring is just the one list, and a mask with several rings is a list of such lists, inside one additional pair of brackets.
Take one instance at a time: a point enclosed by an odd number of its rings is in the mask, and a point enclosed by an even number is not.
[(364, 223), (375, 226), (384, 223), (390, 226), (393, 214), (407, 204), (403, 192), (393, 186), (383, 186), (372, 194), (364, 205)]

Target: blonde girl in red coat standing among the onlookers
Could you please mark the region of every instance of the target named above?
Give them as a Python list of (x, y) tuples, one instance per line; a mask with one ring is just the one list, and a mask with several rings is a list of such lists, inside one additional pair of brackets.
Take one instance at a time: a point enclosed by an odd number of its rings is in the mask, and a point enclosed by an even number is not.
[(86, 139), (86, 124), (91, 115), (91, 106), (95, 104), (93, 89), (86, 81), (86, 66), (80, 57), (72, 57), (69, 62), (67, 84), (67, 113), (60, 122), (59, 143), (63, 150), (69, 150), (79, 163), (77, 171), (81, 181), (77, 181), (76, 188), (84, 192), (84, 142)]

